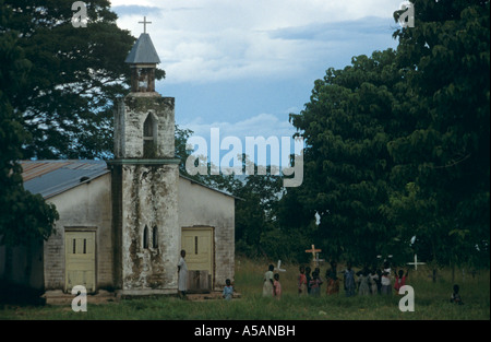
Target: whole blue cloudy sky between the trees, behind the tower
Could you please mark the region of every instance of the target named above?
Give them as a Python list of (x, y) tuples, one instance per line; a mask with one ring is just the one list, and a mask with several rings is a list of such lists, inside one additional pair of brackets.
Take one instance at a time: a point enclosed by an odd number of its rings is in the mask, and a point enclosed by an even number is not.
[(176, 122), (209, 138), (291, 137), (290, 113), (327, 68), (395, 48), (402, 0), (112, 0), (118, 26), (139, 37), (146, 15), (176, 97)]

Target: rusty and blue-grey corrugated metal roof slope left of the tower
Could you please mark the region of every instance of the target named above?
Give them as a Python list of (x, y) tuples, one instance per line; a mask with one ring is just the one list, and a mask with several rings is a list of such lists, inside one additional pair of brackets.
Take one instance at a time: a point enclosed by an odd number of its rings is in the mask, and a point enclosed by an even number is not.
[(45, 199), (109, 173), (105, 161), (22, 161), (24, 188)]

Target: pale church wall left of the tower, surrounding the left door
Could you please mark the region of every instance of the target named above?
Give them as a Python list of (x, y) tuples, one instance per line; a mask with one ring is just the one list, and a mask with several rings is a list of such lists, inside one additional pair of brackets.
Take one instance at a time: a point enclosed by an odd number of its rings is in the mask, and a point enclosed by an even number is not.
[(45, 243), (45, 288), (64, 290), (64, 229), (95, 229), (96, 232), (96, 286), (111, 288), (112, 231), (111, 231), (111, 177), (106, 174), (86, 184), (57, 194), (53, 203), (60, 214), (56, 233)]

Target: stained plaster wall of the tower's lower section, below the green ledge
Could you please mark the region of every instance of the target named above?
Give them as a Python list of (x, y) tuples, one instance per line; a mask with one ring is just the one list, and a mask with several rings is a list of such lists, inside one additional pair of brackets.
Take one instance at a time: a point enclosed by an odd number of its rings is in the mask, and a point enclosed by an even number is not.
[[(177, 290), (178, 165), (122, 166), (122, 288)], [(148, 248), (143, 232), (148, 227)], [(158, 247), (153, 246), (153, 227)]]

